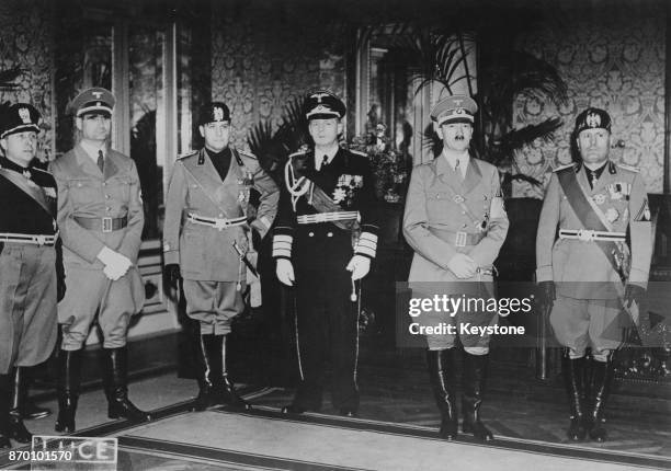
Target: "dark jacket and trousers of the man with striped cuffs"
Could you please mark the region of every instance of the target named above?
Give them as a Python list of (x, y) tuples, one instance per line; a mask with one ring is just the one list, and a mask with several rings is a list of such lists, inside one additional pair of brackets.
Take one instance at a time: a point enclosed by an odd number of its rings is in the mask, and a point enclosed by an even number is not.
[[(330, 163), (319, 171), (314, 151), (292, 156), (293, 168), (319, 186), (344, 211), (359, 211), (361, 241), (351, 230), (333, 222), (298, 223), (297, 218), (318, 211), (307, 192), (292, 203), (286, 185), (282, 187), (275, 227), (273, 256), (289, 259), (296, 286), (296, 343), (302, 382), (294, 404), (306, 410), (321, 407), (323, 371), (328, 358), (333, 371), (332, 402), (337, 409), (356, 411), (359, 388), (359, 311), (350, 299), (351, 273), (348, 263), (359, 253), (374, 257), (377, 242), (377, 215), (374, 208), (373, 176), (365, 156), (339, 149)], [(355, 234), (354, 234), (355, 236)], [(288, 240), (291, 249), (283, 249)]]

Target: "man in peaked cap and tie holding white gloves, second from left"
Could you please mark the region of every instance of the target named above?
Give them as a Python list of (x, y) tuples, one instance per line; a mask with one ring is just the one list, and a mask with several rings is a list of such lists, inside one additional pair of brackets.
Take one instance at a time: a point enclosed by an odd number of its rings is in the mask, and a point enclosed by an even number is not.
[(145, 219), (135, 162), (110, 148), (114, 102), (101, 88), (72, 100), (79, 142), (52, 165), (65, 269), (77, 287), (58, 305), (57, 432), (75, 432), (82, 348), (95, 319), (103, 335), (109, 417), (149, 420), (128, 400), (126, 336), (145, 300), (136, 266)]

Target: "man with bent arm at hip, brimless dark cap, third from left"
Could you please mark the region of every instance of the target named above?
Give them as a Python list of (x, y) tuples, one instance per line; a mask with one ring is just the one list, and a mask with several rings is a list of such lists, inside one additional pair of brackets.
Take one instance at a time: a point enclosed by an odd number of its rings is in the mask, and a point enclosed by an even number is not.
[[(220, 102), (201, 111), (205, 146), (180, 158), (166, 198), (163, 255), (174, 289), (183, 278), (186, 313), (200, 321), (200, 392), (196, 410), (228, 404), (248, 409), (228, 378), (226, 335), (242, 312), (252, 231), (263, 238), (277, 211), (277, 186), (257, 158), (229, 146), (230, 112)], [(248, 220), (250, 191), (261, 194)], [(249, 268), (253, 271), (253, 266)]]

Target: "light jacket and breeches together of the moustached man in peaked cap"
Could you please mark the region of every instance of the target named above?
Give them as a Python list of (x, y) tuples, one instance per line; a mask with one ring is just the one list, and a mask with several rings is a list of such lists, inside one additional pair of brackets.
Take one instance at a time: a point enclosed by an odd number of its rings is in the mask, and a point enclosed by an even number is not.
[[(416, 166), (403, 215), (403, 234), (416, 252), (408, 279), (416, 291), (413, 296), (444, 294), (491, 298), (494, 295), (493, 283), (487, 272), (491, 271), (499, 255), (508, 227), (496, 166), (470, 158), (463, 180), (460, 172), (453, 170), (443, 154)], [(457, 278), (447, 268), (456, 253), (468, 254), (484, 273), (471, 278)], [(419, 318), (418, 322), (424, 325), (469, 322), (478, 326), (490, 325), (497, 319), (491, 312), (457, 312), (454, 317), (429, 312), (421, 315), (423, 320)], [(454, 345), (454, 335), (428, 335), (427, 341), (430, 348), (448, 348)], [(489, 336), (460, 335), (460, 341), (466, 347), (486, 347)]]

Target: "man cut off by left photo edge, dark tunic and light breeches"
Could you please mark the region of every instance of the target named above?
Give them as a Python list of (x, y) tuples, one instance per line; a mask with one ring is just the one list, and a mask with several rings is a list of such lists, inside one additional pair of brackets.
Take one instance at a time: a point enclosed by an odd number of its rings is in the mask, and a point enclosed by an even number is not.
[(38, 122), (26, 103), (0, 117), (0, 448), (10, 448), (10, 438), (31, 441), (20, 413), (25, 369), (52, 354), (65, 294), (56, 182), (33, 166)]

